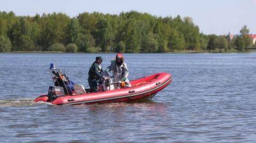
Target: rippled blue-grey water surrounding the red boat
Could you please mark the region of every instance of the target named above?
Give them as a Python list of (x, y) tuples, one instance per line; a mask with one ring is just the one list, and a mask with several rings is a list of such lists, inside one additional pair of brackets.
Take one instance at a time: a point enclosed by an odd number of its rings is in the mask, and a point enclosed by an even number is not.
[(124, 54), (129, 79), (168, 72), (152, 102), (34, 103), (52, 85), (50, 63), (88, 87), (96, 56), (0, 54), (0, 142), (255, 142), (256, 54)]

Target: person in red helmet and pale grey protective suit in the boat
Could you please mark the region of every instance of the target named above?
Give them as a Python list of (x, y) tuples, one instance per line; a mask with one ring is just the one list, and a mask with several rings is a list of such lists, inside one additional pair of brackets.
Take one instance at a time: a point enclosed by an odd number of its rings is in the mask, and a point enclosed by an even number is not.
[(127, 64), (124, 62), (124, 57), (121, 53), (116, 54), (116, 60), (111, 61), (111, 64), (106, 68), (106, 72), (113, 71), (114, 82), (119, 80), (125, 81), (127, 87), (131, 87), (129, 80), (127, 79), (129, 75)]

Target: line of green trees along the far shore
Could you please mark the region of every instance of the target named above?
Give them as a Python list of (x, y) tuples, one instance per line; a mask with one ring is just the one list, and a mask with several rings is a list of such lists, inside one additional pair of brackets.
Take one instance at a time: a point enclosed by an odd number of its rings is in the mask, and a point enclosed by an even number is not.
[(0, 11), (0, 52), (179, 52), (244, 51), (252, 46), (244, 26), (241, 35), (206, 35), (191, 17), (156, 17), (137, 11), (119, 15), (99, 12), (49, 13), (33, 17)]

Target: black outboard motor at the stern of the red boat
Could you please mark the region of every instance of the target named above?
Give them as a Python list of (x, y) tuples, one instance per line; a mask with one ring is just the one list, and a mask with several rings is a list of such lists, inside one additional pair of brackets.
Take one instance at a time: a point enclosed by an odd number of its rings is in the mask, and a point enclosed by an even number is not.
[(53, 102), (58, 97), (65, 96), (63, 87), (60, 86), (50, 86), (48, 90), (48, 98), (50, 102)]

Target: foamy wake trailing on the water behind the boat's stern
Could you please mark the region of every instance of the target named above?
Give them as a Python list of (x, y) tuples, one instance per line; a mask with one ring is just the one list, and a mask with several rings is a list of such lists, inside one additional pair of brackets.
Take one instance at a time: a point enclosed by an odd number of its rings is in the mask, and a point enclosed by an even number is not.
[(10, 100), (0, 100), (0, 107), (28, 107), (35, 105), (45, 104), (43, 102), (33, 102), (33, 99), (23, 98), (23, 99), (10, 99)]

